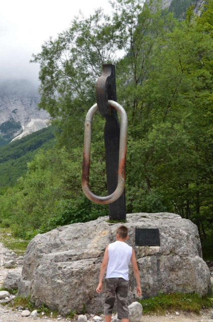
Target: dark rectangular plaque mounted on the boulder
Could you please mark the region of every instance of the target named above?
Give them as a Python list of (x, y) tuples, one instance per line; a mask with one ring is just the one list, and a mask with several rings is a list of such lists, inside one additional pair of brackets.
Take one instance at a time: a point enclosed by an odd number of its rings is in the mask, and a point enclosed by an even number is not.
[(159, 229), (135, 228), (136, 246), (160, 246)]

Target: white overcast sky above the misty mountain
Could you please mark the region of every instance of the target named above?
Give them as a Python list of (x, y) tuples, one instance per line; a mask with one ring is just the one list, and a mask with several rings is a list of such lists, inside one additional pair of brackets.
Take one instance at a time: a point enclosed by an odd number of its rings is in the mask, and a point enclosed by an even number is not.
[(32, 53), (50, 36), (69, 28), (79, 10), (87, 17), (94, 9), (111, 12), (108, 0), (8, 0), (0, 6), (0, 79), (38, 79)]

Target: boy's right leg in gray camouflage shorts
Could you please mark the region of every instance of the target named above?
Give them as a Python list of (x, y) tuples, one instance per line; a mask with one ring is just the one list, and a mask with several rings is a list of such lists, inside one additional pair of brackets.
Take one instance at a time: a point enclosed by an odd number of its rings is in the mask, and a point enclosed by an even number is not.
[(119, 278), (118, 287), (116, 290), (117, 305), (118, 305), (118, 319), (122, 322), (129, 322), (129, 308), (128, 308), (128, 289), (129, 281)]

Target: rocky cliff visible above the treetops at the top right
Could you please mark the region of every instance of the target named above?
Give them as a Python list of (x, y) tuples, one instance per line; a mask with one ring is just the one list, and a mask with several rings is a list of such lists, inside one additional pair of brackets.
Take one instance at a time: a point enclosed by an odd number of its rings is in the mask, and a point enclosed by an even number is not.
[[(146, 4), (150, 4), (153, 10), (155, 8), (155, 3), (159, 4), (158, 0), (146, 0)], [(162, 0), (161, 8), (168, 9), (170, 12), (174, 13), (174, 17), (180, 20), (185, 19), (186, 10), (193, 6), (193, 11), (196, 15), (200, 16), (205, 4), (204, 0)]]

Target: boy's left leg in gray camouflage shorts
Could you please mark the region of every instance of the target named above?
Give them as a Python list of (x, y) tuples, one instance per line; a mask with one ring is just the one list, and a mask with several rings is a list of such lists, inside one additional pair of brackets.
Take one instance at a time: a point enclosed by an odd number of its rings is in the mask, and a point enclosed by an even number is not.
[(113, 314), (113, 306), (116, 300), (116, 288), (118, 285), (118, 278), (107, 278), (105, 286), (105, 301), (104, 311), (105, 321), (111, 322)]

